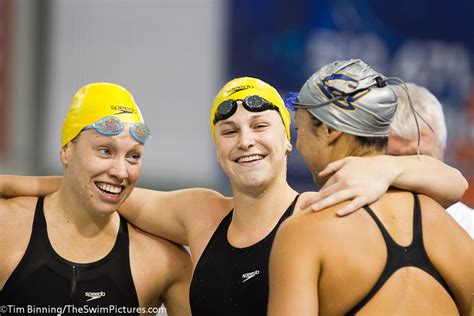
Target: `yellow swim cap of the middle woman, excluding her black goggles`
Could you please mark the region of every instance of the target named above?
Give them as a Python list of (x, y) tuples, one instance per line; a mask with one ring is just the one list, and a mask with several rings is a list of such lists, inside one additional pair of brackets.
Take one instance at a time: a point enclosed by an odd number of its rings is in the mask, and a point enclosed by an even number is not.
[(214, 101), (212, 101), (210, 115), (212, 138), (215, 139), (214, 116), (216, 114), (217, 107), (224, 101), (243, 100), (245, 97), (251, 95), (258, 95), (271, 102), (278, 108), (280, 116), (283, 120), (283, 124), (285, 125), (286, 136), (288, 137), (288, 140), (290, 140), (291, 116), (286, 109), (280, 94), (268, 83), (251, 77), (233, 79), (226, 83), (219, 93), (217, 93)]

